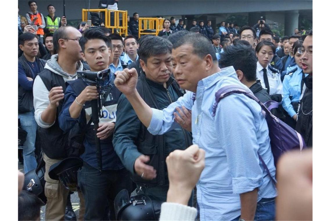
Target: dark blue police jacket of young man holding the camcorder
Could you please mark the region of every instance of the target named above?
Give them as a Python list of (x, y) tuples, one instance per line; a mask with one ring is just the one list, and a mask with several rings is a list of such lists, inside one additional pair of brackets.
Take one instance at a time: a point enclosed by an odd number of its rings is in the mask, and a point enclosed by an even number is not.
[[(108, 85), (111, 82), (112, 81), (108, 80), (106, 82), (103, 82), (102, 85)], [(91, 108), (90, 108), (91, 102), (88, 101), (85, 103), (85, 106), (81, 110), (80, 115), (77, 119), (70, 117), (69, 107), (71, 106), (72, 102), (75, 102), (75, 98), (79, 95), (75, 92), (76, 89), (73, 88), (79, 88), (79, 90), (82, 91), (87, 86), (87, 84), (83, 82), (83, 80), (81, 79), (77, 79), (68, 83), (69, 85), (67, 86), (65, 92), (62, 111), (59, 115), (59, 126), (65, 132), (69, 132), (75, 124), (79, 124), (80, 128), (83, 129), (87, 125), (86, 112), (88, 113), (91, 112)], [(109, 101), (106, 100), (106, 102), (103, 104), (103, 106), (108, 109), (103, 108), (102, 112), (104, 114), (104, 117), (100, 118), (100, 122), (102, 121), (115, 122), (116, 120), (116, 106), (117, 106), (118, 98), (120, 96), (120, 91), (115, 87), (115, 85), (113, 85), (111, 89), (111, 94), (113, 100), (109, 100)], [(100, 140), (103, 170), (105, 169), (118, 170), (124, 167), (114, 150), (112, 138), (113, 136), (111, 135), (110, 137), (104, 140)], [(96, 146), (95, 146), (93, 125), (89, 125), (88, 128), (86, 129), (83, 144), (85, 147), (85, 152), (80, 157), (90, 166), (97, 169), (98, 164), (95, 153)]]

